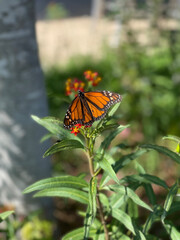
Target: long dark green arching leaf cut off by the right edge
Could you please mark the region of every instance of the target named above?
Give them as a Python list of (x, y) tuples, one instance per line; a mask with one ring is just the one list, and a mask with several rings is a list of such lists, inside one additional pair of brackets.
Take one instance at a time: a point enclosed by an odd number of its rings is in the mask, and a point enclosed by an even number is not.
[(140, 145), (141, 148), (145, 148), (145, 149), (153, 149), (153, 150), (156, 150), (160, 153), (163, 153), (165, 154), (166, 156), (170, 157), (172, 160), (174, 160), (175, 162), (177, 163), (180, 163), (180, 156), (169, 150), (168, 148), (166, 147), (163, 147), (163, 146), (158, 146), (158, 145), (152, 145), (152, 144), (143, 144), (143, 145)]

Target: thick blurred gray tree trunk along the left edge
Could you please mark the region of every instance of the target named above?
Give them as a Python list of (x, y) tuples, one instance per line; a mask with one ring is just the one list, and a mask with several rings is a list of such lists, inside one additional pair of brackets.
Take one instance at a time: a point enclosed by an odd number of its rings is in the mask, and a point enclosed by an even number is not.
[[(40, 144), (45, 130), (30, 117), (47, 116), (44, 78), (34, 31), (34, 1), (0, 1), (0, 204), (27, 213), (39, 206), (22, 190), (50, 176)], [(41, 203), (40, 203), (41, 204)], [(49, 204), (44, 201), (43, 204)], [(41, 206), (41, 205), (40, 205)]]

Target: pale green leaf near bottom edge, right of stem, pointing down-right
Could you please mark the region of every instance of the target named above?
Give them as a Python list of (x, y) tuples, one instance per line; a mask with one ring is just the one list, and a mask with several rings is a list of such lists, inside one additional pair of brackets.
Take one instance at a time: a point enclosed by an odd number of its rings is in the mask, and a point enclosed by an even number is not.
[(135, 234), (134, 227), (129, 215), (118, 208), (112, 209), (112, 216), (120, 221), (128, 230)]

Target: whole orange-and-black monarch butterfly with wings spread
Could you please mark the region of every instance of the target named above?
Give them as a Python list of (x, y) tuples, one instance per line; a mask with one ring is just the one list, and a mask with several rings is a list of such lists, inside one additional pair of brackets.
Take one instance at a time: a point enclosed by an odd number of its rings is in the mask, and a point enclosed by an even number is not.
[(91, 125), (103, 118), (111, 105), (122, 101), (122, 96), (110, 91), (81, 92), (72, 101), (65, 118), (64, 127), (69, 129), (76, 124)]

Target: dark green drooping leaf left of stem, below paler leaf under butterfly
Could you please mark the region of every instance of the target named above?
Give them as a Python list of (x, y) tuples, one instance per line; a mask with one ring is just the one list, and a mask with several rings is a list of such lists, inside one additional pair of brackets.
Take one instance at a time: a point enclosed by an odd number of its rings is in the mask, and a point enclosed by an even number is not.
[(84, 149), (84, 146), (82, 143), (80, 143), (77, 140), (62, 140), (61, 142), (55, 143), (52, 147), (50, 147), (44, 154), (43, 157), (47, 157), (49, 155), (52, 155), (56, 152), (60, 152), (63, 150), (69, 150), (69, 149), (75, 149), (75, 148), (81, 148)]

